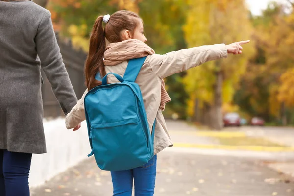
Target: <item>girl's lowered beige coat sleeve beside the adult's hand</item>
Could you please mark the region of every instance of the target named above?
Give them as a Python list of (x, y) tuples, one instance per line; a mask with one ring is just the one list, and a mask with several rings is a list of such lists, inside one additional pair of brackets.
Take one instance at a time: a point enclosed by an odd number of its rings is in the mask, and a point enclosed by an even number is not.
[(82, 98), (77, 101), (77, 104), (73, 107), (70, 113), (66, 115), (65, 125), (67, 129), (72, 129), (82, 121), (86, 120), (84, 98), (87, 93), (88, 89), (86, 89)]

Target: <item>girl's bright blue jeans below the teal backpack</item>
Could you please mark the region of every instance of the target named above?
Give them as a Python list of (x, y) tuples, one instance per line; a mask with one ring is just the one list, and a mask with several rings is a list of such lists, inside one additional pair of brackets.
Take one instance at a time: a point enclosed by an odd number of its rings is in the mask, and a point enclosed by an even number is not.
[(124, 171), (111, 171), (113, 196), (132, 196), (133, 179), (135, 196), (153, 196), (156, 177), (155, 155), (147, 164)]

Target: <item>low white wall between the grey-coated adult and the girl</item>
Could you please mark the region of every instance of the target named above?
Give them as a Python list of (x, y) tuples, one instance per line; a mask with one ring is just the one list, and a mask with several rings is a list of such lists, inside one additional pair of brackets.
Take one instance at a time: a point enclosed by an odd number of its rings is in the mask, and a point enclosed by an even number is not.
[(88, 158), (91, 152), (87, 125), (73, 132), (65, 127), (65, 119), (44, 120), (47, 153), (33, 154), (29, 185), (42, 185), (56, 174)]

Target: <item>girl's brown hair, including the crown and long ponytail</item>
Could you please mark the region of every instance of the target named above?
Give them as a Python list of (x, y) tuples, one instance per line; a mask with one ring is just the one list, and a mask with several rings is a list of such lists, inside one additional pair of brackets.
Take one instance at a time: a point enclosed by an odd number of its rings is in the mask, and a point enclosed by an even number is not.
[(85, 63), (85, 84), (88, 90), (101, 85), (100, 81), (95, 79), (95, 75), (99, 72), (101, 78), (105, 73), (103, 64), (103, 56), (106, 48), (105, 38), (110, 42), (122, 42), (121, 33), (123, 30), (134, 32), (138, 25), (138, 19), (141, 18), (134, 12), (130, 11), (117, 11), (110, 16), (108, 23), (103, 30), (102, 20), (103, 16), (99, 16), (93, 26), (92, 34), (90, 37), (89, 54)]

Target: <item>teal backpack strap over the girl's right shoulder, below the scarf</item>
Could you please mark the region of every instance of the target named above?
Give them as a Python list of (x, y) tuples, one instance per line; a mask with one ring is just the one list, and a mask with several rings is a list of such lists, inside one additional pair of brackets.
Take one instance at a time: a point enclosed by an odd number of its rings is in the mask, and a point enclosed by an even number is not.
[(125, 70), (123, 80), (135, 82), (147, 56), (130, 59)]

